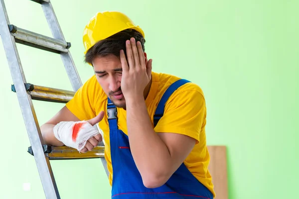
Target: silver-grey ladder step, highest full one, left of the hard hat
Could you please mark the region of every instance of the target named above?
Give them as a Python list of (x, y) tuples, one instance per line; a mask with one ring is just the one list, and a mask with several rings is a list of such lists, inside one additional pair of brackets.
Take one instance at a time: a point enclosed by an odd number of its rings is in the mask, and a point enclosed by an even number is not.
[(46, 50), (53, 53), (68, 52), (71, 43), (44, 36), (29, 30), (8, 25), (9, 31), (15, 38), (16, 43), (24, 44), (34, 48)]

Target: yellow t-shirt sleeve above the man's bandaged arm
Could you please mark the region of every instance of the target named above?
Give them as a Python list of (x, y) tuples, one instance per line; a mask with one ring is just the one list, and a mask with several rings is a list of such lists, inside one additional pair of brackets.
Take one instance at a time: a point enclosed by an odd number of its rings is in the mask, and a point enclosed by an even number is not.
[(95, 104), (100, 92), (96, 78), (93, 76), (78, 89), (74, 97), (66, 103), (66, 107), (80, 120), (88, 120), (96, 116)]

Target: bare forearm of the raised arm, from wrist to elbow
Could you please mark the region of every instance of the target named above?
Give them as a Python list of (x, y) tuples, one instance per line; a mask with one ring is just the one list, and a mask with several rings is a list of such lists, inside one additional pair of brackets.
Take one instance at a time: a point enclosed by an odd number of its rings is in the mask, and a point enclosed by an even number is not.
[(143, 179), (165, 181), (171, 165), (167, 146), (154, 132), (143, 98), (127, 101), (127, 128), (134, 161)]

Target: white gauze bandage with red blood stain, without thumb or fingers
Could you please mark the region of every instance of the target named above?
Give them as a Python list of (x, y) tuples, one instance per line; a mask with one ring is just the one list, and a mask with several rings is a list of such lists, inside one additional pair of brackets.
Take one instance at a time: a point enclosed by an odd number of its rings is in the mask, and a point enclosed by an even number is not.
[(87, 121), (61, 121), (53, 128), (55, 137), (64, 145), (81, 151), (87, 140), (97, 134), (96, 125), (92, 126)]

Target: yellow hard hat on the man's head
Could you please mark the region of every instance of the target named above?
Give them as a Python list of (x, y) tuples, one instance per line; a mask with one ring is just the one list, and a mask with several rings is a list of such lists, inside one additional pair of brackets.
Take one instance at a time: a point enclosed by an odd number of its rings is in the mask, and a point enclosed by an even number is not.
[(144, 31), (124, 13), (118, 11), (98, 12), (84, 28), (84, 54), (98, 41), (129, 28), (137, 30), (145, 37)]

